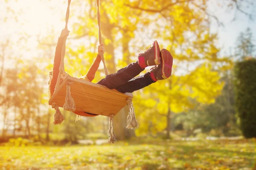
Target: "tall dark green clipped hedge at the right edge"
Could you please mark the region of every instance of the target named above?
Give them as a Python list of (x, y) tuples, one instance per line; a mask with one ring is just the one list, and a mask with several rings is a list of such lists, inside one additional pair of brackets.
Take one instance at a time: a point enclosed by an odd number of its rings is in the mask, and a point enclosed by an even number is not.
[(236, 111), (245, 138), (256, 137), (256, 59), (237, 62), (235, 71)]

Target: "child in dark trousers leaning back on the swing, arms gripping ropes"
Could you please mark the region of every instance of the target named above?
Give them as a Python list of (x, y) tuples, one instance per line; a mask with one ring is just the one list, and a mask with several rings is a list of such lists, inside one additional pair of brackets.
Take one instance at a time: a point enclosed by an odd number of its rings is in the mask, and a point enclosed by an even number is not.
[[(56, 56), (61, 55), (61, 48), (63, 44), (64, 37), (67, 37), (69, 31), (63, 29), (61, 31), (61, 36), (58, 38), (58, 43), (55, 51), (55, 61), (53, 65), (52, 80), (58, 78), (60, 61), (57, 60)], [(99, 45), (98, 51), (105, 52), (104, 46)], [(104, 79), (97, 82), (97, 84), (104, 85), (109, 89), (116, 89), (121, 93), (132, 93), (141, 88), (144, 88), (157, 80), (167, 79), (172, 74), (172, 55), (166, 49), (160, 51), (157, 41), (154, 41), (147, 51), (140, 53), (138, 55), (138, 60), (131, 63), (130, 65), (121, 68), (115, 74), (107, 75)], [(86, 74), (85, 79), (90, 82), (94, 79), (95, 73), (99, 68), (99, 63), (101, 58), (99, 54), (94, 60), (92, 66)], [(136, 77), (148, 66), (153, 66), (151, 70), (142, 76)], [(51, 80), (50, 83), (50, 93), (54, 92), (56, 82)], [(93, 114), (94, 115), (94, 114)]]

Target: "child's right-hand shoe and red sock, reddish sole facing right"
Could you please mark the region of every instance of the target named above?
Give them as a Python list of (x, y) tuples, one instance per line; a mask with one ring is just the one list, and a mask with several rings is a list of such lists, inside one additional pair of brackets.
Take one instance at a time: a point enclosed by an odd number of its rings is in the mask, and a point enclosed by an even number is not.
[(150, 71), (150, 77), (152, 80), (157, 81), (161, 79), (167, 79), (172, 74), (172, 55), (166, 50), (161, 50), (161, 63)]

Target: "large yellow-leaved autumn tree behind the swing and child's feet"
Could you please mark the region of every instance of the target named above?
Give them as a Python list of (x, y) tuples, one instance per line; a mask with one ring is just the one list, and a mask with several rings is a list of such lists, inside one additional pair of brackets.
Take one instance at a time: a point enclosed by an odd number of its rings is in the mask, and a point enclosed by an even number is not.
[[(78, 5), (81, 6), (81, 4)], [(72, 50), (71, 48), (73, 47), (68, 48), (69, 66), (66, 68), (67, 72), (71, 71), (71, 75), (77, 72), (85, 74), (87, 68), (89, 68), (89, 65), (85, 64), (85, 62), (91, 63), (93, 57), (96, 56), (96, 54), (85, 51), (87, 48), (93, 49), (95, 52), (95, 39), (97, 37), (95, 29), (96, 8), (92, 1), (89, 1), (87, 7), (90, 10), (85, 11), (85, 15), (89, 17), (78, 17), (78, 21), (74, 23), (73, 27), (76, 38), (86, 37), (89, 43), (86, 47), (84, 47), (84, 44), (79, 46), (78, 50)], [(108, 8), (113, 8), (113, 10), (107, 10)], [(167, 135), (169, 135), (169, 119), (172, 113), (178, 113), (194, 107), (192, 100), (202, 103), (214, 102), (215, 97), (220, 94), (223, 87), (223, 83), (218, 81), (220, 76), (215, 71), (215, 68), (219, 63), (230, 63), (230, 61), (226, 58), (218, 57), (219, 49), (214, 42), (217, 39), (217, 35), (209, 32), (209, 17), (211, 16), (206, 12), (206, 9), (206, 1), (177, 0), (172, 3), (164, 0), (154, 2), (133, 1), (130, 3), (102, 1), (102, 35), (106, 44), (105, 57), (110, 73), (114, 73), (116, 67), (121, 68), (131, 61), (131, 57), (128, 57), (128, 55), (135, 54), (134, 56), (136, 56), (137, 53), (145, 50), (148, 47), (147, 42), (149, 39), (161, 38), (163, 40), (161, 43), (166, 44), (165, 48), (172, 51), (175, 57), (176, 63), (172, 79), (165, 82), (157, 82), (157, 85), (152, 85), (149, 88), (145, 88), (144, 91), (140, 91), (143, 92), (140, 96), (142, 101), (153, 98), (157, 101), (157, 108), (166, 108), (165, 110), (157, 110), (162, 118), (160, 119), (157, 116), (156, 120), (166, 119), (168, 125), (163, 123), (163, 127), (161, 126), (159, 130), (166, 129), (168, 131)], [(153, 34), (148, 34), (146, 39), (135, 36), (145, 34), (145, 30), (149, 30)], [(122, 36), (117, 36), (118, 34)], [(137, 48), (131, 50), (131, 48), (128, 48), (129, 43), (134, 44)], [(147, 44), (146, 47), (145, 44)], [(116, 63), (114, 49), (119, 47), (123, 49), (123, 57), (122, 62)], [(85, 62), (81, 60), (81, 54), (87, 56)], [(188, 65), (188, 62), (190, 65)], [(84, 65), (83, 68), (80, 67), (81, 64)], [(184, 65), (187, 66), (184, 67)], [(191, 65), (194, 65), (194, 67), (191, 67)], [(182, 70), (185, 74), (176, 74), (176, 72)], [(99, 77), (96, 80), (99, 80)], [(204, 84), (205, 87), (202, 87), (203, 82), (207, 82)], [(152, 91), (156, 86), (161, 88), (158, 88), (157, 93), (154, 94)], [(150, 94), (147, 95), (149, 93), (147, 91), (150, 91)], [(136, 100), (140, 99), (137, 97), (138, 93), (134, 93), (134, 96), (136, 96), (134, 97), (134, 103), (137, 103)], [(166, 97), (166, 95), (169, 95), (169, 97)], [(158, 100), (159, 98), (160, 101)], [(180, 101), (183, 101), (183, 103), (180, 104)], [(144, 108), (141, 105), (143, 104), (140, 103), (136, 108)], [(143, 112), (146, 110), (143, 110)], [(121, 116), (121, 114), (119, 115)], [(116, 116), (116, 120), (124, 119), (124, 116), (121, 116), (120, 119), (118, 116)], [(148, 120), (148, 117), (143, 116), (141, 118), (145, 119), (145, 122)], [(125, 123), (122, 121), (115, 123), (118, 123), (115, 124), (116, 129), (121, 130), (119, 134), (124, 134)], [(153, 124), (154, 127), (156, 124), (157, 122)], [(148, 123), (145, 126), (148, 127)], [(168, 128), (165, 126), (168, 126)], [(121, 137), (121, 139), (124, 138)]]

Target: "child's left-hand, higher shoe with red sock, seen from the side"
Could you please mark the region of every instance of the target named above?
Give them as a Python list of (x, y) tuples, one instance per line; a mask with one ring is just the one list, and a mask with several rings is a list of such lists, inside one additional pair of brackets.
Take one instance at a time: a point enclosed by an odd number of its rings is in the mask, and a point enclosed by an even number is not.
[(141, 68), (160, 64), (160, 48), (158, 42), (154, 41), (147, 51), (140, 53), (138, 55), (138, 60)]

